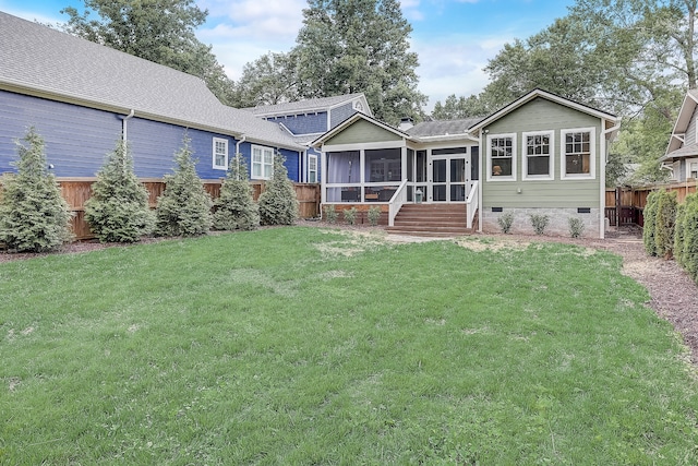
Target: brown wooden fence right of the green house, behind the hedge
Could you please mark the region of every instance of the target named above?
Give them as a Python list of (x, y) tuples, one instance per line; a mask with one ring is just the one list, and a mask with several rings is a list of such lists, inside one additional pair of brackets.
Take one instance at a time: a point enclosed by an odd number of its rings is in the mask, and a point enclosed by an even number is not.
[(611, 226), (645, 225), (642, 212), (647, 204), (647, 196), (657, 190), (675, 191), (681, 204), (688, 194), (695, 193), (698, 181), (687, 181), (675, 184), (657, 184), (642, 188), (616, 188), (606, 190), (606, 218)]

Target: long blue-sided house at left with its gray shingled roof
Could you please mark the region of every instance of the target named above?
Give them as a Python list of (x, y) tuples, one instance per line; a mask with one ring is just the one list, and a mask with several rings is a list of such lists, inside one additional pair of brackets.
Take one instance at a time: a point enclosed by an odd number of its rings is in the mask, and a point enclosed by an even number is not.
[(161, 178), (191, 140), (202, 179), (225, 177), (236, 152), (267, 179), (277, 151), (308, 180), (306, 145), (285, 127), (222, 105), (203, 80), (0, 12), (0, 174), (35, 127), (57, 177), (91, 178), (119, 139), (136, 175)]

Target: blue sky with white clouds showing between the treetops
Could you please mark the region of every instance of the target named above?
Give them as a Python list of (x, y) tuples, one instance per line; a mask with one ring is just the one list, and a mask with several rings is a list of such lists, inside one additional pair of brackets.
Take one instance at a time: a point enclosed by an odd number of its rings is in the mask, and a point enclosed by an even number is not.
[[(306, 0), (195, 0), (208, 10), (196, 35), (233, 81), (245, 63), (269, 51), (287, 52), (302, 26)], [(450, 94), (479, 94), (489, 82), (483, 68), (505, 44), (526, 39), (567, 14), (574, 0), (401, 0), (412, 26), (411, 50), (419, 56), (419, 91), (429, 96), (425, 110)], [(0, 11), (29, 21), (64, 23), (65, 7), (84, 9), (82, 0), (0, 0)], [(94, 14), (94, 13), (93, 13)]]

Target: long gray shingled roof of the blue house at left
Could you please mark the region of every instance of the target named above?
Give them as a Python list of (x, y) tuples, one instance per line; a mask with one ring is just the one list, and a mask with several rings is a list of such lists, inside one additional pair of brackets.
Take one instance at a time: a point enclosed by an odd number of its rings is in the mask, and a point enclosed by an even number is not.
[(0, 88), (302, 150), (200, 77), (0, 12)]

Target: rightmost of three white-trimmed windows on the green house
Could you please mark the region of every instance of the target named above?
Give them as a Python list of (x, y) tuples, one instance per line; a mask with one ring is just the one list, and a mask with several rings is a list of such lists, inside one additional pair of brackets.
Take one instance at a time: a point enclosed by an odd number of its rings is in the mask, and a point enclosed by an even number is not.
[(562, 179), (594, 179), (597, 176), (595, 128), (561, 130)]

